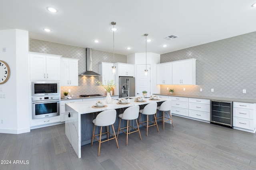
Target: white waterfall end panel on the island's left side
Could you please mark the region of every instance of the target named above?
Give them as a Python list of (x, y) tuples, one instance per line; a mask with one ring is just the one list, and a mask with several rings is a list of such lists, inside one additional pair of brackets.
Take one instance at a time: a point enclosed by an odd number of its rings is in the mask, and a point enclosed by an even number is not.
[[(76, 152), (78, 158), (81, 158), (81, 125), (80, 115), (77, 111), (66, 104), (65, 106), (65, 133)], [(70, 113), (70, 117), (69, 117)]]

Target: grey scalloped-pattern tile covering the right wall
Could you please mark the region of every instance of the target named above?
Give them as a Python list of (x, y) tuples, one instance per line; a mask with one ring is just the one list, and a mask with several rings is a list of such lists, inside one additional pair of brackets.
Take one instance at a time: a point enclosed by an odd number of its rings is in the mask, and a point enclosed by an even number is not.
[(176, 94), (256, 99), (256, 32), (162, 54), (160, 63), (189, 58), (197, 59), (196, 85), (162, 85), (161, 93), (168, 87)]

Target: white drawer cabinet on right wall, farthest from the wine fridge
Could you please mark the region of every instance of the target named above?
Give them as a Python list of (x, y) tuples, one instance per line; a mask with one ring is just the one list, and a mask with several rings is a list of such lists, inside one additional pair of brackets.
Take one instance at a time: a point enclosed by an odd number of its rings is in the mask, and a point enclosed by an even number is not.
[(172, 113), (188, 117), (188, 98), (172, 97)]

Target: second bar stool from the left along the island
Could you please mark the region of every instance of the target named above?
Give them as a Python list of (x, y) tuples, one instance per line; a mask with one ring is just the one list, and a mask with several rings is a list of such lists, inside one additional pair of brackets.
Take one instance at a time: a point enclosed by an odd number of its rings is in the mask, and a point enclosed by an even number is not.
[[(123, 133), (125, 133), (126, 134), (126, 146), (128, 145), (128, 135), (130, 135), (131, 133), (134, 133), (134, 132), (139, 132), (139, 135), (140, 135), (140, 129), (139, 129), (138, 121), (137, 121), (137, 119), (139, 117), (139, 111), (140, 111), (140, 106), (131, 106), (131, 107), (128, 107), (124, 111), (124, 113), (121, 113), (120, 115), (118, 115), (120, 117), (120, 119), (119, 119), (117, 138), (118, 138), (119, 131), (122, 131)], [(120, 128), (121, 119), (127, 120), (127, 127)], [(135, 127), (131, 126), (131, 120), (134, 120), (134, 119), (136, 120), (137, 129)], [(129, 132), (128, 132), (128, 127), (129, 127)], [(122, 130), (125, 128), (126, 128), (126, 132)], [(131, 132), (131, 128), (135, 129), (135, 131)], [(142, 140), (141, 135), (140, 135), (140, 140)]]

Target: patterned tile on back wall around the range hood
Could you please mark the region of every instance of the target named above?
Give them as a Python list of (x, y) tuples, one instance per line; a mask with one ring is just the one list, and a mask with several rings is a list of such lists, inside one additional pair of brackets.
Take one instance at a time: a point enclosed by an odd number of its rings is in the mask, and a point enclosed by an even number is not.
[[(47, 53), (62, 55), (66, 58), (79, 59), (78, 61), (78, 74), (82, 74), (86, 70), (86, 49), (82, 47), (75, 47), (71, 45), (64, 45), (59, 43), (52, 43), (48, 41), (41, 41), (36, 39), (30, 39), (30, 50), (32, 52)], [(99, 62), (113, 62), (113, 53), (104, 51), (97, 51), (92, 49), (92, 70), (99, 73)], [(115, 63), (127, 63), (126, 55), (115, 54)], [(94, 84), (98, 80), (98, 77), (93, 76), (78, 76), (78, 86), (62, 86), (61, 96), (63, 92), (68, 92), (74, 96), (80, 94), (106, 94), (104, 88)]]

